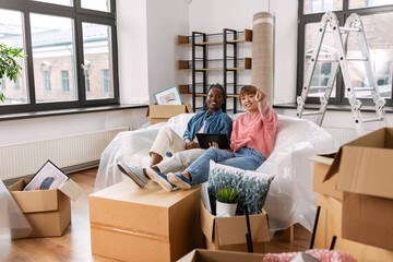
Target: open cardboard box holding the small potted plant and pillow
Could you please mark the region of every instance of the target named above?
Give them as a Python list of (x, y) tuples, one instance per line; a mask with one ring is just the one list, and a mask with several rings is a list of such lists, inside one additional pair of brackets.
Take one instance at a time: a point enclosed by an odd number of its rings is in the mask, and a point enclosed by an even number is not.
[[(216, 217), (201, 202), (201, 226), (205, 246), (209, 250), (230, 250), (247, 252), (246, 216)], [(270, 241), (266, 212), (250, 215), (253, 251), (265, 252), (265, 242)]]

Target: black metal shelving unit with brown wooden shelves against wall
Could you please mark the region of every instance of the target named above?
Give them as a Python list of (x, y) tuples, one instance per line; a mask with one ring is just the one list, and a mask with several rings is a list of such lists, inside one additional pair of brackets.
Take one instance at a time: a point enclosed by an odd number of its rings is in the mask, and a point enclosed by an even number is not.
[[(213, 38), (221, 38), (221, 40), (213, 40)], [(238, 57), (238, 44), (250, 41), (252, 41), (252, 31), (250, 29), (237, 32), (234, 29), (224, 28), (223, 33), (217, 34), (192, 32), (191, 36), (178, 36), (177, 45), (191, 47), (192, 51), (191, 60), (179, 60), (177, 66), (179, 71), (192, 72), (192, 83), (180, 84), (179, 91), (181, 95), (192, 97), (192, 107), (194, 111), (198, 109), (202, 109), (196, 107), (196, 98), (202, 98), (203, 104), (205, 103), (206, 91), (211, 85), (207, 81), (207, 73), (213, 71), (223, 71), (222, 84), (227, 93), (227, 102), (228, 99), (233, 99), (233, 108), (224, 108), (224, 110), (233, 110), (234, 114), (237, 112), (238, 72), (241, 70), (251, 69), (251, 58)], [(207, 47), (219, 45), (222, 45), (223, 48), (223, 58), (209, 59)], [(221, 62), (222, 66), (211, 66), (217, 62)], [(196, 79), (199, 79), (199, 81), (196, 81)]]

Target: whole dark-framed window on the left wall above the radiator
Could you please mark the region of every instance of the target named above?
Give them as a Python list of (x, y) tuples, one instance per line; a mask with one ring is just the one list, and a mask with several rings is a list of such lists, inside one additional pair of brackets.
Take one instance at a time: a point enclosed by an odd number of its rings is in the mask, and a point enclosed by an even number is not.
[(27, 58), (0, 114), (118, 105), (115, 12), (115, 0), (1, 0), (0, 40)]

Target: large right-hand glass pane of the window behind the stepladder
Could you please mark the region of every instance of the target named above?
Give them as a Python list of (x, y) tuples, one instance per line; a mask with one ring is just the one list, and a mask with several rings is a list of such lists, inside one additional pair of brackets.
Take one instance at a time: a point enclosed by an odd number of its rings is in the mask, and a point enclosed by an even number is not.
[[(391, 21), (393, 13), (381, 13), (361, 16), (366, 38), (371, 56), (371, 64), (377, 84), (382, 97), (392, 97), (393, 74), (393, 35)], [(348, 57), (361, 57), (360, 46), (356, 33), (348, 37)], [(366, 69), (362, 62), (348, 62), (354, 87), (369, 86)], [(356, 97), (371, 98), (371, 92), (356, 92)]]

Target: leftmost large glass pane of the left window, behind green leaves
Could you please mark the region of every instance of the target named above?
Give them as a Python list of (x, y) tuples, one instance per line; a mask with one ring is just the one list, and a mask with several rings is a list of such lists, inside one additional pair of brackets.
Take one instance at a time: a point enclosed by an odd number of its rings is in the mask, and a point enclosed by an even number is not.
[[(0, 43), (9, 47), (24, 49), (21, 12), (0, 9)], [(0, 103), (0, 106), (27, 104), (26, 59), (17, 59), (17, 63), (22, 67), (22, 76), (19, 78), (17, 83), (13, 83), (3, 75), (1, 92), (4, 94), (5, 99), (4, 103)]]

